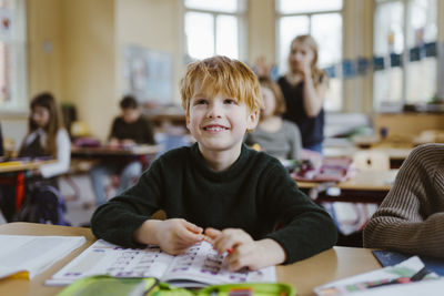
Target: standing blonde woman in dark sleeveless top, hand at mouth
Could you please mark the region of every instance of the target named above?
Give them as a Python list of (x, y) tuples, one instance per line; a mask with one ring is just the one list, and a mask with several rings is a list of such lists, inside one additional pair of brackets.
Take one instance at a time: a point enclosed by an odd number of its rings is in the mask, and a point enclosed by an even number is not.
[(316, 63), (317, 44), (314, 39), (297, 35), (290, 48), (289, 72), (278, 83), (286, 102), (284, 119), (297, 124), (304, 149), (322, 153), (327, 76)]

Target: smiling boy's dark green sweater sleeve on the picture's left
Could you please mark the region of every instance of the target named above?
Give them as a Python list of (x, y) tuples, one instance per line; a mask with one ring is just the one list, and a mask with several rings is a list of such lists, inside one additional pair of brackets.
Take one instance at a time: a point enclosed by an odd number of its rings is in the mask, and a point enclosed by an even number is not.
[(143, 247), (133, 239), (133, 234), (160, 207), (161, 175), (158, 160), (134, 186), (98, 207), (91, 218), (95, 237), (124, 247)]

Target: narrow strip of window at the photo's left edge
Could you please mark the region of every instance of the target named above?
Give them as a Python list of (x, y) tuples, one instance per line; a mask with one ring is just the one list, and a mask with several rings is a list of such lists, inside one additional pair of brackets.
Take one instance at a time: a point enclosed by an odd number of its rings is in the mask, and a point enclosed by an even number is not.
[(24, 0), (0, 0), (0, 113), (27, 106)]

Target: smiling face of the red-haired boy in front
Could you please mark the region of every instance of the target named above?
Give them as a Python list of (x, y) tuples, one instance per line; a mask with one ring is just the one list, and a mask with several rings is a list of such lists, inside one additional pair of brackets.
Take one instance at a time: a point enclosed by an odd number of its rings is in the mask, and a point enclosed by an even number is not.
[[(215, 96), (194, 91), (186, 115), (186, 127), (199, 143), (203, 155), (214, 152), (239, 153), (243, 136), (258, 124), (259, 112), (222, 93)], [(235, 156), (235, 155), (233, 155)]]

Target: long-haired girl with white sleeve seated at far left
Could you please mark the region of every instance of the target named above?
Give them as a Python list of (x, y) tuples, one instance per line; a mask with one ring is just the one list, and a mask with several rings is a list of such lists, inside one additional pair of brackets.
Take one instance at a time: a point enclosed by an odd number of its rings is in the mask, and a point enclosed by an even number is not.
[(40, 166), (44, 178), (67, 173), (71, 160), (71, 142), (62, 121), (56, 99), (50, 93), (41, 93), (31, 101), (29, 131), (20, 147), (19, 156), (51, 156), (54, 163)]

